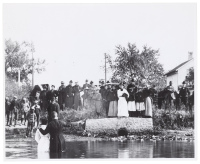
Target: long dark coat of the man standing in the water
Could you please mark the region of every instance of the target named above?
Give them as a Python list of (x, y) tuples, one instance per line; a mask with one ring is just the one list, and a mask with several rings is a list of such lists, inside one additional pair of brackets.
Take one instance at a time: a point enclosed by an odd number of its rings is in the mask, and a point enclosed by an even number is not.
[(43, 135), (50, 134), (50, 153), (59, 153), (65, 150), (65, 139), (62, 133), (65, 125), (66, 123), (54, 119), (47, 125), (45, 130), (40, 128)]

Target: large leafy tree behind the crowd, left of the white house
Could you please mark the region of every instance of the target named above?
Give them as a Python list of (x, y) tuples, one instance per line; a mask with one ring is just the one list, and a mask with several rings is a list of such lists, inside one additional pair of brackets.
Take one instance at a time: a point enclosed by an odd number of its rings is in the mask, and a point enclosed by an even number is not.
[(141, 53), (135, 44), (128, 43), (128, 47), (116, 46), (116, 58), (109, 56), (108, 63), (113, 72), (112, 81), (130, 81), (135, 79), (140, 85), (147, 82), (156, 85), (158, 88), (164, 87), (164, 69), (158, 63), (159, 50), (153, 50), (144, 46)]

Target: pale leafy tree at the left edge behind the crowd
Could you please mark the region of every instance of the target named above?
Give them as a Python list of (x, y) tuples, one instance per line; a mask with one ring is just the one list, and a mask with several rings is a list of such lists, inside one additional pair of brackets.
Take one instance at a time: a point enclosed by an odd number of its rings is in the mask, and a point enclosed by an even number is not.
[(19, 44), (17, 41), (5, 40), (5, 73), (9, 78), (18, 79), (20, 70), (21, 81), (28, 81), (28, 75), (32, 74), (33, 67), (40, 73), (45, 70), (45, 60), (30, 59), (29, 55), (34, 53), (34, 45), (28, 42)]

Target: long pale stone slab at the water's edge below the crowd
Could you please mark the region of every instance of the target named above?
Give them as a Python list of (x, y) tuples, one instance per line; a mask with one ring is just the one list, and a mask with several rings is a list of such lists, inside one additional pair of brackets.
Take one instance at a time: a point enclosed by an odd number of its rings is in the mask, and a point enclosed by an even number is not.
[(103, 118), (86, 120), (85, 130), (92, 133), (117, 134), (126, 128), (129, 133), (148, 132), (153, 130), (152, 118)]

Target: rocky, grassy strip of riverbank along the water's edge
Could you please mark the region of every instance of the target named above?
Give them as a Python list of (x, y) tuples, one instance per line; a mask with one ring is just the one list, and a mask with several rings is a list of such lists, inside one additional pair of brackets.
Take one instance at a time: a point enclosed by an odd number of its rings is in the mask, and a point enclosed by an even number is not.
[[(35, 133), (36, 129), (34, 129)], [(19, 126), (16, 127), (6, 127), (5, 134), (6, 134), (6, 141), (33, 141), (34, 138), (25, 138), (26, 127)], [(96, 135), (91, 133), (77, 135), (77, 134), (67, 134), (64, 133), (65, 141), (112, 141), (117, 140), (117, 136), (107, 136), (107, 135)], [(143, 133), (143, 134), (128, 134), (128, 140), (185, 140), (185, 141), (194, 141), (195, 134), (194, 129), (192, 128), (185, 128), (182, 130), (169, 130), (163, 129), (159, 132), (151, 132), (151, 133)]]

